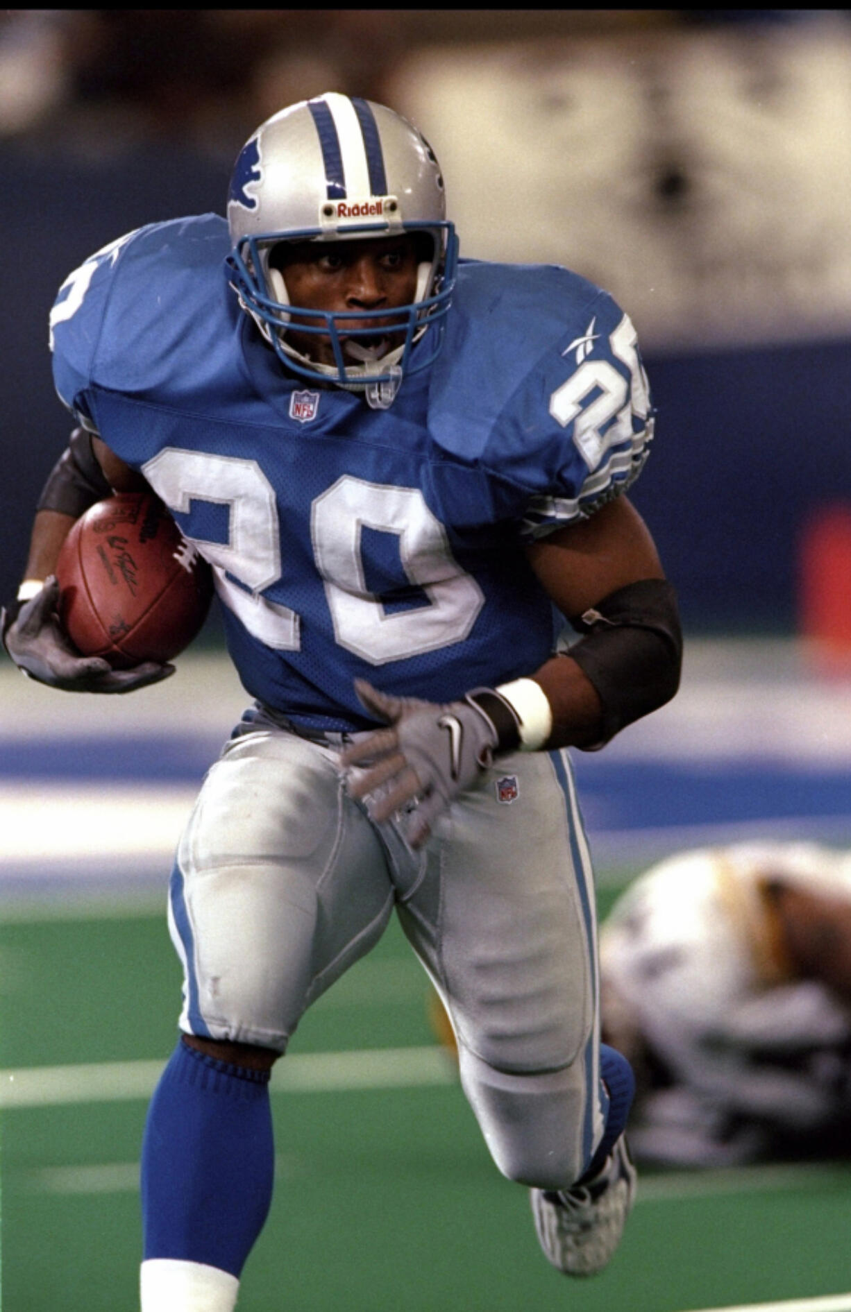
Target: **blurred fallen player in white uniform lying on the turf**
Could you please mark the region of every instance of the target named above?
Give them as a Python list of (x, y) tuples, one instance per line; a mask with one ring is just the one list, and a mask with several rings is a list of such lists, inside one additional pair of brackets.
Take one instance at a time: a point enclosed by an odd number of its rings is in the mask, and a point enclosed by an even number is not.
[(680, 1166), (851, 1141), (851, 859), (700, 849), (647, 870), (600, 930), (603, 1034), (637, 1078), (636, 1155)]

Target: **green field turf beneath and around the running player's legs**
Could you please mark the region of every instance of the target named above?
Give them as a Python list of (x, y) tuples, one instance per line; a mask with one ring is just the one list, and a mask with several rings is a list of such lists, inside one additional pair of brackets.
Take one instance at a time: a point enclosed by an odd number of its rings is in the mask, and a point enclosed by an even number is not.
[[(159, 912), (0, 916), (0, 1064), (164, 1061), (179, 988)], [(423, 1047), (426, 998), (394, 925), (290, 1051)], [(146, 1102), (3, 1113), (4, 1312), (134, 1312)], [(612, 1266), (573, 1282), (542, 1258), (527, 1191), (491, 1165), (449, 1069), (407, 1089), (278, 1085), (273, 1109), (276, 1197), (239, 1312), (683, 1312), (851, 1288), (839, 1166), (644, 1176)]]

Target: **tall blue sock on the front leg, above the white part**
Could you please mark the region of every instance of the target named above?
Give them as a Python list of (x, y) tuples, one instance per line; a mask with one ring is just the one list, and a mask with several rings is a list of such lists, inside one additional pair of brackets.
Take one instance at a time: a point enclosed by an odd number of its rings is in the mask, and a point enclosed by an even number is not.
[(204, 1262), (239, 1278), (272, 1203), (269, 1075), (177, 1044), (142, 1144), (146, 1260)]

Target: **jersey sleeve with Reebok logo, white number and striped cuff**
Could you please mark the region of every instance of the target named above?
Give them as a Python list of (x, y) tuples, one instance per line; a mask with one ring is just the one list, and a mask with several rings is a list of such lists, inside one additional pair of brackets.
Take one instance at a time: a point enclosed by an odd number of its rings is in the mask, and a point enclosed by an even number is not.
[[(584, 320), (584, 321), (583, 321)], [(542, 365), (525, 401), (537, 404), (537, 482), (520, 533), (540, 538), (594, 514), (638, 478), (654, 413), (632, 320), (601, 291)]]

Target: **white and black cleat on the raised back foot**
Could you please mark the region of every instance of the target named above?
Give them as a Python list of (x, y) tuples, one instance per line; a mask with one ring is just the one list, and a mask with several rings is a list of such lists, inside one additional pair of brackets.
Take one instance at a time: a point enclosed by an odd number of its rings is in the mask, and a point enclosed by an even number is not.
[(565, 1275), (596, 1275), (608, 1266), (636, 1198), (636, 1178), (621, 1135), (594, 1179), (558, 1191), (533, 1189), (535, 1228), (548, 1261)]

